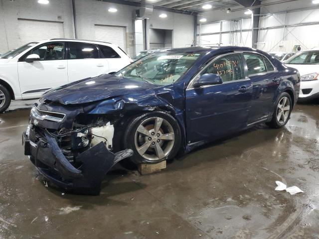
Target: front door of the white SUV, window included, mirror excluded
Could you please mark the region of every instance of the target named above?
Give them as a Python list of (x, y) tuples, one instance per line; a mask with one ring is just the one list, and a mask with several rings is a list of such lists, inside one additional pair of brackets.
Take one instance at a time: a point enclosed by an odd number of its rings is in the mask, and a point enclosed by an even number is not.
[[(26, 62), (30, 54), (39, 55), (40, 60)], [(39, 98), (45, 91), (68, 83), (64, 42), (39, 45), (20, 57), (17, 64), (23, 100)]]

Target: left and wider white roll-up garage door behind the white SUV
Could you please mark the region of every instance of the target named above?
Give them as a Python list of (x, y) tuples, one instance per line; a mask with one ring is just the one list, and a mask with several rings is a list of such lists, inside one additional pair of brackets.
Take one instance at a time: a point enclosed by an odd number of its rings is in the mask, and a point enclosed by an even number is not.
[(21, 44), (63, 38), (63, 22), (18, 19), (18, 34)]

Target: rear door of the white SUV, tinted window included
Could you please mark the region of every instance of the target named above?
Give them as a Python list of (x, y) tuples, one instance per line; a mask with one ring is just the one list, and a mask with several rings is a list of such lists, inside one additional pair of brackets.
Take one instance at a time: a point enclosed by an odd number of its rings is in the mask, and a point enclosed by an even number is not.
[(100, 58), (96, 44), (68, 42), (68, 81), (78, 81), (109, 73), (109, 65)]

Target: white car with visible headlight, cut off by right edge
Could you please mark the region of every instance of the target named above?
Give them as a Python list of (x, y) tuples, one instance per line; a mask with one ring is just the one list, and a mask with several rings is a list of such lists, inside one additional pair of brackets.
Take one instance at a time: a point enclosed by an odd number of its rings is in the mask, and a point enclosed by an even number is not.
[(299, 101), (319, 98), (319, 50), (298, 53), (285, 62), (301, 75)]

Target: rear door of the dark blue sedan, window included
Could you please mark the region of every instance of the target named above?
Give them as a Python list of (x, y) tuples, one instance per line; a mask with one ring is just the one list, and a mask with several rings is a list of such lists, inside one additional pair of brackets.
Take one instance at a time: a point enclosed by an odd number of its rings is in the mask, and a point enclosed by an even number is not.
[(251, 109), (248, 124), (268, 119), (276, 101), (277, 89), (282, 75), (276, 70), (267, 57), (244, 52), (247, 63), (248, 77), (253, 86)]

